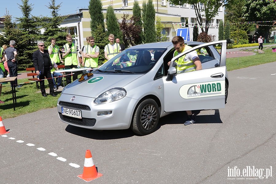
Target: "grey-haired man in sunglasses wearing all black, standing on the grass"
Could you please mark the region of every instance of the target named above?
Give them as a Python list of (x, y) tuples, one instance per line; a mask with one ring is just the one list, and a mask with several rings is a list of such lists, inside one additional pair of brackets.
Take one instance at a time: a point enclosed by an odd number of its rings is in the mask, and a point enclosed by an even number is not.
[[(45, 45), (43, 41), (38, 41), (37, 46), (38, 50), (33, 53), (33, 66), (35, 67), (36, 75), (38, 75), (40, 79), (39, 83), (41, 94), (42, 96), (47, 97), (44, 85), (44, 78), (46, 77), (49, 83), (50, 94), (53, 97), (56, 97), (56, 94), (54, 93), (54, 82), (51, 74), (51, 69), (54, 66), (51, 62), (49, 52), (47, 49), (44, 49)], [(57, 67), (57, 65), (55, 67)]]

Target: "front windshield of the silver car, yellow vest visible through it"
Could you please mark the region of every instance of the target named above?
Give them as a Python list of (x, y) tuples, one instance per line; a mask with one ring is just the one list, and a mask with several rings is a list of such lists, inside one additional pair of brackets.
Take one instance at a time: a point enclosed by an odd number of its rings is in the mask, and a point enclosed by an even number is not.
[(98, 71), (113, 73), (147, 73), (166, 48), (128, 48), (104, 63)]

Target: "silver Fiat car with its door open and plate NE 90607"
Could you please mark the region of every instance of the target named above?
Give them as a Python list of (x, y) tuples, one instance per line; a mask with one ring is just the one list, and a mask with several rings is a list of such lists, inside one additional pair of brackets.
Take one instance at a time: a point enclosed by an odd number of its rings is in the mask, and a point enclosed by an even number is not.
[[(224, 108), (229, 84), (226, 40), (186, 44), (193, 48), (176, 57), (171, 42), (136, 45), (119, 53), (63, 89), (57, 104), (60, 120), (95, 130), (131, 128), (147, 135), (171, 112)], [(221, 53), (214, 47), (218, 44)], [(201, 48), (207, 53), (201, 55)], [(202, 70), (177, 74), (173, 61), (194, 50)]]

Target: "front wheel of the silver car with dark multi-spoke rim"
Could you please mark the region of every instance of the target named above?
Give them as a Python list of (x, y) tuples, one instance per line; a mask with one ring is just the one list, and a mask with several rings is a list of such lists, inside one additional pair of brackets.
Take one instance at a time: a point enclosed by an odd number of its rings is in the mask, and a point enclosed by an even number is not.
[(157, 103), (153, 99), (145, 99), (135, 110), (131, 129), (139, 135), (147, 135), (156, 130), (160, 118)]

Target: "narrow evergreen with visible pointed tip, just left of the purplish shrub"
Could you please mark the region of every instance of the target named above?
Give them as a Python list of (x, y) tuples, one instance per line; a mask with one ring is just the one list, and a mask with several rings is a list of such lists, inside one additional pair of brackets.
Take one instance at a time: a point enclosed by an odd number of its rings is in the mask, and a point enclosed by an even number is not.
[(117, 17), (114, 13), (114, 9), (111, 5), (107, 7), (106, 10), (106, 29), (107, 29), (107, 36), (109, 34), (113, 34), (116, 38), (122, 40), (122, 32), (120, 30)]

